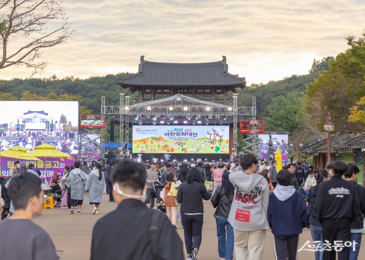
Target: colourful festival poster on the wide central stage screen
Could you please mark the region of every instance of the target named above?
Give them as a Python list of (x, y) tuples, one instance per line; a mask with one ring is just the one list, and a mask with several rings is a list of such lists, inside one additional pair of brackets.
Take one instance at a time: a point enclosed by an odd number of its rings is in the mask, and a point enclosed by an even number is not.
[(228, 154), (228, 125), (134, 125), (134, 153)]

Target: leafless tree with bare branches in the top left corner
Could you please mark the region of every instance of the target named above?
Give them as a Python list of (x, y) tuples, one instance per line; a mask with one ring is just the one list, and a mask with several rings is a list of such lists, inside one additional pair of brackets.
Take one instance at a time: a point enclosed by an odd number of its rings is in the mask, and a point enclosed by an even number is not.
[[(65, 42), (74, 32), (61, 8), (63, 1), (0, 0), (0, 69), (26, 65), (35, 74), (46, 67), (47, 62), (36, 61), (43, 48)], [(54, 27), (53, 22), (60, 24)], [(19, 38), (27, 39), (26, 43), (18, 45), (23, 42)]]

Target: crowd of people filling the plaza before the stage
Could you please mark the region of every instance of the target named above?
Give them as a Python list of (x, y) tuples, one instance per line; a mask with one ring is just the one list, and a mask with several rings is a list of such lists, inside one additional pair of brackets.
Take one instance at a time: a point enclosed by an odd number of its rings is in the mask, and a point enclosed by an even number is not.
[[(74, 210), (81, 214), (85, 196), (89, 196), (91, 214), (99, 213), (103, 193), (118, 205), (93, 228), (92, 260), (119, 259), (120, 249), (123, 259), (197, 260), (203, 239), (204, 200), (211, 200), (216, 209), (220, 260), (233, 259), (234, 253), (238, 260), (262, 259), (267, 230), (274, 235), (273, 258), (297, 259), (299, 235), (306, 227), (314, 241), (312, 248), (318, 249), (313, 253), (316, 260), (335, 259), (336, 253), (341, 260), (357, 259), (365, 189), (357, 184), (360, 170), (356, 164), (335, 161), (326, 170), (315, 170), (296, 162), (277, 172), (275, 160), (259, 162), (253, 154), (229, 164), (166, 159), (141, 163), (112, 159), (92, 165), (75, 162), (65, 166), (62, 178), (53, 177), (50, 187), (54, 193), (64, 190), (59, 203), (72, 214)], [(3, 208), (9, 215), (9, 220), (0, 222), (0, 230), (17, 234), (28, 225), (34, 232), (22, 237), (19, 252), (6, 249), (19, 243), (17, 238), (0, 236), (4, 259), (21, 259), (25, 254), (34, 256), (32, 259), (57, 259), (49, 235), (31, 222), (33, 216), (42, 214), (40, 209), (47, 199), (38, 174), (24, 163), (13, 170), (9, 179), (0, 178)], [(157, 193), (157, 187), (161, 192)], [(178, 217), (187, 257), (176, 233)], [(331, 250), (323, 250), (327, 245)]]

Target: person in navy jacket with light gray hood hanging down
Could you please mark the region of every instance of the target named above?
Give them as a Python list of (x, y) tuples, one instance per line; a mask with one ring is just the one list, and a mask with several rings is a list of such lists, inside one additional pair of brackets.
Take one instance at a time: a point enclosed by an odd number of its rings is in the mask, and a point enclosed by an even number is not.
[(308, 224), (307, 205), (299, 192), (289, 186), (292, 176), (288, 170), (279, 171), (276, 180), (278, 185), (270, 195), (268, 208), (275, 259), (296, 260), (299, 234)]

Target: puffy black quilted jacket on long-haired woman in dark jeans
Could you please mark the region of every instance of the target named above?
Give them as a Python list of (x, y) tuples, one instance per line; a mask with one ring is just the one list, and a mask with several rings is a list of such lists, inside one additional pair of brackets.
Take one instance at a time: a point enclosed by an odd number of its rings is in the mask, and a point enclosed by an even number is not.
[(207, 191), (204, 183), (183, 182), (177, 190), (177, 202), (181, 203), (181, 213), (204, 213), (203, 199), (206, 201), (212, 197), (212, 192)]

